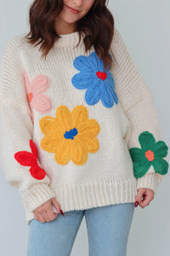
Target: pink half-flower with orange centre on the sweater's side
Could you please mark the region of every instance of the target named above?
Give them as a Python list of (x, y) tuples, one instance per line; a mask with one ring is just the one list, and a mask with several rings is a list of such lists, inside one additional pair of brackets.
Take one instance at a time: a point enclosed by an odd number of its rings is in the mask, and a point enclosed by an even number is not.
[(32, 121), (34, 119), (32, 108), (35, 108), (40, 113), (46, 113), (50, 108), (52, 108), (51, 100), (48, 96), (42, 95), (42, 92), (48, 89), (49, 81), (48, 77), (44, 75), (38, 75), (31, 82), (28, 74), (24, 73), (26, 80), (26, 90), (28, 102), (30, 103)]

